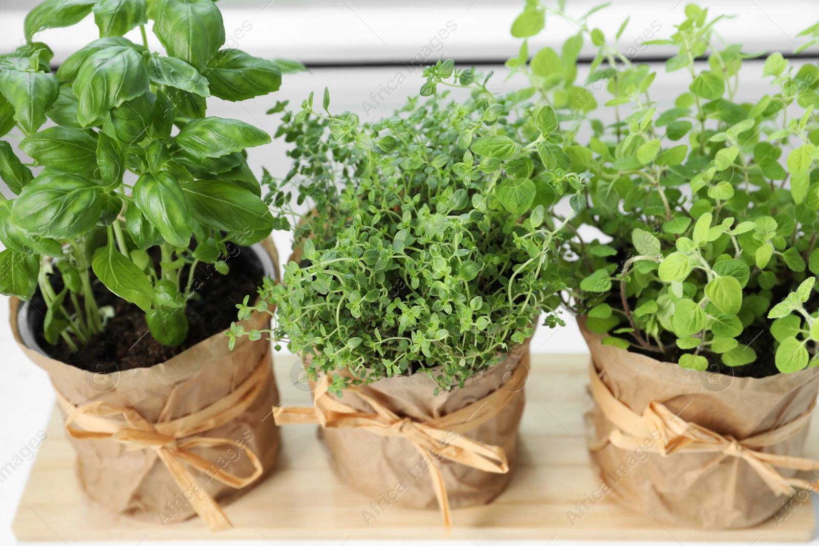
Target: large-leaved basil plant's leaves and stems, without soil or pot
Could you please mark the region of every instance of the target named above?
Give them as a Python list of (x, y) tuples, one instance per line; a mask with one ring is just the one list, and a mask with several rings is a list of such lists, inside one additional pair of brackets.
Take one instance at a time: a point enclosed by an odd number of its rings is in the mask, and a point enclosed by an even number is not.
[[(92, 12), (99, 37), (52, 71), (51, 49), (34, 36)], [(165, 52), (149, 49), (149, 25)], [(142, 43), (124, 37), (135, 29)], [(206, 115), (207, 101), (274, 92), (282, 70), (220, 49), (211, 0), (47, 0), (26, 16), (25, 38), (0, 56), (0, 136), (20, 139), (30, 158), (0, 141), (0, 177), (14, 194), (0, 195), (0, 292), (25, 300), (39, 288), (46, 340), (76, 349), (112, 311), (97, 306), (98, 279), (143, 309), (156, 341), (179, 345), (197, 264), (227, 273), (226, 245), (274, 226), (246, 151), (269, 135)]]

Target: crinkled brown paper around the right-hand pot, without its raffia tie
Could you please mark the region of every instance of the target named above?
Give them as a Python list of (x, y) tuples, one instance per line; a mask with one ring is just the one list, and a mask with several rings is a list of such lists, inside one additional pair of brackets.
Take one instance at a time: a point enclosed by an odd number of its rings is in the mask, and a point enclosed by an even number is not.
[[(658, 401), (687, 422), (743, 440), (803, 415), (819, 390), (819, 368), (762, 379), (722, 376), (721, 382), (709, 383), (710, 372), (602, 345), (602, 336), (586, 329), (585, 318), (579, 318), (578, 323), (600, 379), (638, 414), (650, 402)], [(640, 461), (635, 452), (606, 441), (614, 427), (596, 404), (593, 420), (591, 453), (602, 483), (622, 505), (648, 511), (665, 524), (715, 530), (749, 527), (767, 520), (788, 501), (788, 497), (774, 494), (741, 458), (724, 453), (663, 457), (648, 452)], [(801, 457), (807, 435), (805, 426), (785, 442), (761, 450)], [(595, 449), (600, 445), (603, 447)], [(796, 474), (786, 468), (776, 470), (785, 477)], [(812, 480), (816, 478), (811, 474)]]

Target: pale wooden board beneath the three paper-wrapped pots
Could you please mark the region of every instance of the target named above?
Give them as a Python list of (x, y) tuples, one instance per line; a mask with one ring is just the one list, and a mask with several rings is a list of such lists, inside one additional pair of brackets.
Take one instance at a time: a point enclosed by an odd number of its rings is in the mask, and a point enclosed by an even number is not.
[[(609, 539), (807, 541), (812, 538), (811, 500), (794, 497), (788, 512), (744, 530), (696, 531), (669, 528), (644, 509), (631, 512), (608, 496), (573, 522), (575, 503), (600, 486), (586, 452), (583, 415), (591, 407), (586, 394), (586, 354), (533, 354), (527, 406), (519, 439), (518, 470), (509, 489), (487, 506), (453, 512), (451, 539)], [(290, 382), (295, 359), (275, 364), (283, 404), (308, 405), (309, 393)], [(270, 417), (272, 418), (272, 417)], [(214, 535), (198, 519), (161, 526), (107, 514), (84, 499), (75, 478), (75, 455), (59, 414), (48, 425), (48, 441), (20, 500), (13, 530), (20, 540), (174, 539), (441, 539), (441, 515), (389, 507), (367, 526), (362, 512), (369, 499), (342, 485), (330, 471), (315, 426), (284, 426), (278, 467), (259, 486), (224, 507), (233, 525)], [(819, 435), (810, 435), (808, 456), (819, 455)], [(610, 495), (609, 495), (610, 496)], [(783, 498), (783, 503), (788, 499)], [(650, 509), (650, 507), (647, 507)], [(778, 521), (777, 521), (778, 519)]]

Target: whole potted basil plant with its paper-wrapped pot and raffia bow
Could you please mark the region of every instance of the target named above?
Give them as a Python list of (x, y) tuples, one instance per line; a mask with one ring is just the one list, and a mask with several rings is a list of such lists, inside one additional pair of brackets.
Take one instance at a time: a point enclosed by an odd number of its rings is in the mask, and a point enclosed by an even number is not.
[[(99, 38), (52, 71), (34, 34), (92, 11)], [(147, 25), (164, 53), (147, 47)], [(124, 37), (134, 29), (142, 43)], [(278, 448), (261, 422), (278, 403), (269, 350), (219, 342), (225, 304), (275, 276), (276, 220), (247, 165), (269, 135), (206, 106), (274, 92), (281, 70), (220, 49), (210, 0), (47, 0), (25, 38), (0, 56), (11, 327), (52, 378), (91, 499), (163, 524), (199, 513), (222, 529), (215, 499), (256, 483)]]

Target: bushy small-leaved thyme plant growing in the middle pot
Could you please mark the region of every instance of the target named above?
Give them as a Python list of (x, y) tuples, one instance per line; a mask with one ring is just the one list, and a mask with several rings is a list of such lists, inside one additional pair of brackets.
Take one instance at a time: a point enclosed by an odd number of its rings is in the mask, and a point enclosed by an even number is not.
[(272, 327), (234, 325), (231, 344), (286, 341), (339, 395), (419, 372), (450, 390), (532, 336), (537, 315), (562, 323), (568, 218), (550, 205), (586, 174), (568, 168), (551, 106), (531, 88), (493, 93), (490, 77), (439, 61), (420, 96), (375, 123), (333, 114), (327, 90), (320, 108), (310, 94), (285, 112), (277, 134), (296, 166), (268, 199), (295, 225), (296, 255), (281, 284), (238, 305), (239, 318), (276, 305)]

